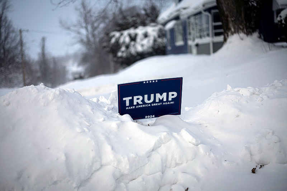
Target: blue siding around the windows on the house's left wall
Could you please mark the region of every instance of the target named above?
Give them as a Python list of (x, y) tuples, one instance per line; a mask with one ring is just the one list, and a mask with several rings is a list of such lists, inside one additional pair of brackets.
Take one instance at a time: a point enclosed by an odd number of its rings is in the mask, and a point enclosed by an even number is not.
[(183, 26), (183, 42), (184, 44), (182, 46), (176, 46), (175, 45), (175, 39), (174, 39), (174, 28), (169, 29), (170, 31), (170, 49), (166, 46), (166, 54), (186, 54), (188, 53), (187, 49), (187, 29), (186, 29), (186, 22), (182, 21)]

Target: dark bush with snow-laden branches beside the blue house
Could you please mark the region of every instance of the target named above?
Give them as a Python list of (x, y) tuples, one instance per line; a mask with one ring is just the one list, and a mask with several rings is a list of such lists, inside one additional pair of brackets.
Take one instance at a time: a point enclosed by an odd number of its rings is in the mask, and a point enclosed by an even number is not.
[(116, 63), (129, 66), (137, 60), (165, 54), (165, 31), (162, 25), (151, 23), (110, 33), (110, 52)]

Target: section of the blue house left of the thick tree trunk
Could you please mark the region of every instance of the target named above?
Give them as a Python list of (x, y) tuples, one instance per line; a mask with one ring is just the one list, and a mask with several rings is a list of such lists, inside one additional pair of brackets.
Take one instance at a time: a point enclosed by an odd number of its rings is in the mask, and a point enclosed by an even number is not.
[(166, 30), (166, 54), (212, 54), (223, 45), (215, 0), (174, 0), (158, 22)]

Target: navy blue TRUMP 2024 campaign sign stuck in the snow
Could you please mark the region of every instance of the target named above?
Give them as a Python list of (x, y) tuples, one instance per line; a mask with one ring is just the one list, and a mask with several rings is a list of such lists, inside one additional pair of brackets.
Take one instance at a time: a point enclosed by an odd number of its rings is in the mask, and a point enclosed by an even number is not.
[(119, 114), (133, 120), (180, 115), (183, 78), (118, 84)]

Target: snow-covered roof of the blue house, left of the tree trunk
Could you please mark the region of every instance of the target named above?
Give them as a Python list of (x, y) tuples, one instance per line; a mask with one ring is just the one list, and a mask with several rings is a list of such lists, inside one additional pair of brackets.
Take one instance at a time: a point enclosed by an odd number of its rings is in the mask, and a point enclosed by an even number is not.
[(172, 5), (166, 9), (166, 11), (160, 13), (158, 16), (158, 22), (164, 23), (181, 13), (192, 13), (199, 11), (205, 4), (212, 3), (216, 4), (215, 0), (182, 0), (179, 3), (172, 3)]

